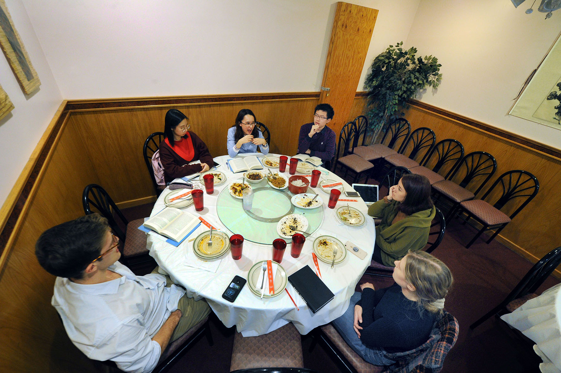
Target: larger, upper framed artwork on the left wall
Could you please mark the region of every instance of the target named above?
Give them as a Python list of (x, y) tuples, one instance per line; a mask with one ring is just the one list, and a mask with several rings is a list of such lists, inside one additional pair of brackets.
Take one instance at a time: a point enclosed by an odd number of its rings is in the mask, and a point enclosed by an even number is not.
[(39, 88), (41, 82), (31, 64), (29, 55), (27, 55), (24, 43), (22, 43), (20, 35), (13, 25), (12, 17), (4, 0), (0, 0), (0, 46), (25, 94), (33, 93)]

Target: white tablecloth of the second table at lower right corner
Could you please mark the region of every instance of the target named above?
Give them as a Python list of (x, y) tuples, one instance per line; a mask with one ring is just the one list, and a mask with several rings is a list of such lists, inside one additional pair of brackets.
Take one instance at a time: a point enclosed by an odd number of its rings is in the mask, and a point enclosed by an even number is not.
[(561, 371), (561, 284), (500, 318), (536, 342)]

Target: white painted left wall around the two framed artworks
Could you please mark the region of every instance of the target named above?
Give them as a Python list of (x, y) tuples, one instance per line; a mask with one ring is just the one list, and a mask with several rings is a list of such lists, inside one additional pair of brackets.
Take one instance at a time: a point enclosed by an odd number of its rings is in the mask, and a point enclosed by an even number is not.
[(0, 205), (10, 193), (62, 101), (61, 92), (54, 81), (24, 5), (20, 0), (6, 0), (6, 5), (31, 63), (39, 75), (41, 86), (38, 91), (26, 96), (4, 54), (0, 53), (0, 84), (14, 105), (10, 114), (0, 120)]

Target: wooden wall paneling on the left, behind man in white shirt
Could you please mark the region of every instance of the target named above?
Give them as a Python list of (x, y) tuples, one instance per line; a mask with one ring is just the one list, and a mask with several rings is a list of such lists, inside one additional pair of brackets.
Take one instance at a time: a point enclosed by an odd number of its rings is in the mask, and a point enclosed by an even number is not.
[(54, 276), (35, 258), (35, 241), (46, 229), (84, 215), (82, 184), (98, 181), (77, 129), (66, 126), (53, 147), (36, 193), (26, 202), (25, 222), (0, 277), (0, 364), (6, 371), (93, 371), (74, 347), (50, 305)]

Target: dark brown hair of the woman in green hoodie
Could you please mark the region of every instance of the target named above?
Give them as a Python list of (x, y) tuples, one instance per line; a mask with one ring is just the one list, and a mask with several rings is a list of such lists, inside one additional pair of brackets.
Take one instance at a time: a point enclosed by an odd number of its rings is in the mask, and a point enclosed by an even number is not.
[(430, 199), (430, 182), (426, 176), (408, 174), (401, 177), (405, 189), (405, 198), (399, 204), (399, 211), (411, 215), (433, 207)]

